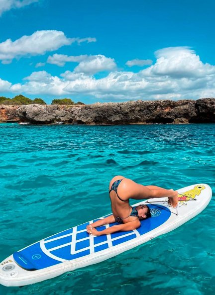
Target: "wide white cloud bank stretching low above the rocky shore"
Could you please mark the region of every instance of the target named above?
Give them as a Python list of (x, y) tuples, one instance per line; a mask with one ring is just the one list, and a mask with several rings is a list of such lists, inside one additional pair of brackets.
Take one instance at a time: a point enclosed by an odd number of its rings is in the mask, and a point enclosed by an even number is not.
[[(23, 84), (11, 86), (8, 82), (3, 83), (6, 88), (9, 87), (10, 91), (16, 93), (54, 96), (90, 95), (99, 99), (117, 101), (196, 99), (214, 96), (215, 66), (204, 64), (194, 51), (187, 47), (165, 48), (157, 51), (156, 57), (154, 65), (138, 73), (111, 71), (106, 77), (96, 79), (90, 74), (92, 73), (90, 61), (89, 65), (87, 60), (84, 60), (80, 62), (80, 64), (85, 63), (83, 71), (79, 64), (73, 72), (66, 71), (60, 77), (39, 71), (26, 77)], [(186, 66), (186, 63), (189, 63), (189, 66)], [(92, 69), (95, 69), (95, 65)]]

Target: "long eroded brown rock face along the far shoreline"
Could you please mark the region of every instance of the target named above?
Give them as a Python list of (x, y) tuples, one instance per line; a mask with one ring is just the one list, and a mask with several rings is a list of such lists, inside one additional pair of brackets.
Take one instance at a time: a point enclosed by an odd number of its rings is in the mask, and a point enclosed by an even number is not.
[(0, 121), (110, 125), (215, 122), (215, 98), (137, 100), (71, 106), (0, 105)]

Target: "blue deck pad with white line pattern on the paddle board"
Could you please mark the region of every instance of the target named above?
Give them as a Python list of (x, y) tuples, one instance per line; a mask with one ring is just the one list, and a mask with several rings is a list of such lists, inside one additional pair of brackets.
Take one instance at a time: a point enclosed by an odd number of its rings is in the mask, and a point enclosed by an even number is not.
[[(171, 215), (169, 208), (157, 204), (148, 204), (148, 206), (150, 207), (152, 217), (141, 220), (141, 226), (134, 231), (115, 232), (110, 235), (94, 237), (87, 233), (86, 226), (90, 222), (86, 222), (48, 237), (22, 251), (15, 252), (13, 258), (24, 269), (36, 270), (125, 243), (137, 236), (150, 232), (169, 219)], [(115, 222), (109, 226), (114, 224), (118, 223)], [(97, 229), (103, 230), (105, 228), (106, 226), (100, 226)]]

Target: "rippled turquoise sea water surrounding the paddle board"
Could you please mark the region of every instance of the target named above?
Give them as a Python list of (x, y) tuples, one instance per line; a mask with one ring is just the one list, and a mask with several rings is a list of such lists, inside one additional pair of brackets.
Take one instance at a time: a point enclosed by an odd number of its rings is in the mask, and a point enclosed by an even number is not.
[[(167, 189), (195, 183), (215, 189), (214, 124), (0, 124), (0, 143), (0, 261), (108, 214), (115, 175)], [(0, 286), (0, 294), (212, 294), (214, 211), (213, 198), (197, 217), (140, 247), (31, 286)]]

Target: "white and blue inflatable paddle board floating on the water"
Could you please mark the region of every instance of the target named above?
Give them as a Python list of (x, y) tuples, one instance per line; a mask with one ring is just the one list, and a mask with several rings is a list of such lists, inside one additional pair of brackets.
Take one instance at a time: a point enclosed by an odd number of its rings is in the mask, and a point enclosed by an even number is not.
[[(0, 284), (29, 285), (104, 261), (179, 227), (199, 214), (212, 197), (211, 188), (205, 184), (192, 185), (178, 192), (177, 208), (168, 205), (168, 198), (153, 198), (133, 205), (149, 205), (152, 215), (142, 220), (141, 226), (135, 230), (102, 236), (89, 235), (86, 226), (96, 219), (13, 253), (0, 263)], [(103, 230), (114, 224), (97, 229)]]

